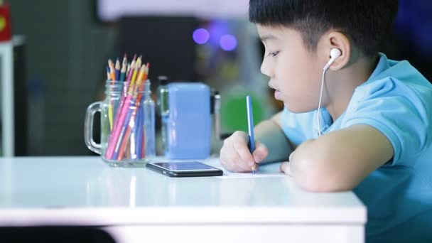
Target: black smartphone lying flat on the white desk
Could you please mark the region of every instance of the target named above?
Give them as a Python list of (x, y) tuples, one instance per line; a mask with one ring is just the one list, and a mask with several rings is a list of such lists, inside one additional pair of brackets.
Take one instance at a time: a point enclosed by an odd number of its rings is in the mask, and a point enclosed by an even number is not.
[(153, 162), (147, 163), (146, 167), (170, 177), (217, 176), (224, 173), (218, 168), (198, 161)]

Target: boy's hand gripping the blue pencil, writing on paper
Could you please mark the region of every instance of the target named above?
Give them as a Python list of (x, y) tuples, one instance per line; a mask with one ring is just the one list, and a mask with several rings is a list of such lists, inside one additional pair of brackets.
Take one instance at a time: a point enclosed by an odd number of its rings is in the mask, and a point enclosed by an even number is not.
[(244, 131), (236, 131), (225, 139), (220, 149), (220, 163), (228, 171), (250, 172), (254, 163), (259, 163), (266, 158), (269, 150), (264, 144), (255, 141), (255, 151), (249, 152), (248, 135)]

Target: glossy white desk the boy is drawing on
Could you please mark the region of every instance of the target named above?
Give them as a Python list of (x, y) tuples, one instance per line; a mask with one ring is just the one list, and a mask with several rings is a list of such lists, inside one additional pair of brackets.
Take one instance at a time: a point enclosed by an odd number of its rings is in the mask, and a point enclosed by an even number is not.
[(146, 168), (109, 168), (98, 157), (0, 158), (0, 198), (0, 226), (95, 225), (118, 242), (365, 237), (366, 209), (352, 192), (308, 193), (288, 176), (168, 178)]

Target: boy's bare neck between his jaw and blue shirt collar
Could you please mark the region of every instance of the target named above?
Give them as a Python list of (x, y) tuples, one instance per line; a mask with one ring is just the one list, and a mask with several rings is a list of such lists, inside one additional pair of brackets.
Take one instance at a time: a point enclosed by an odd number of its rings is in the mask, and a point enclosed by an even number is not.
[(330, 102), (325, 108), (330, 113), (333, 121), (345, 112), (354, 90), (366, 82), (377, 66), (378, 55), (373, 58), (362, 57), (347, 65), (337, 72), (327, 72), (325, 80), (326, 92)]

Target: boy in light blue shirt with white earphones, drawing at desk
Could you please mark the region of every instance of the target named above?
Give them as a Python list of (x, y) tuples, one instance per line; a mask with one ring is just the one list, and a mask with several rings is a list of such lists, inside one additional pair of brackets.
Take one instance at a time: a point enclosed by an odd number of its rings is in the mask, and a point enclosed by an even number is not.
[(432, 85), (377, 50), (397, 9), (394, 0), (250, 0), (261, 72), (285, 109), (255, 127), (253, 153), (244, 132), (226, 139), (222, 166), (288, 160), (281, 171), (301, 188), (354, 190), (368, 242), (431, 240)]

